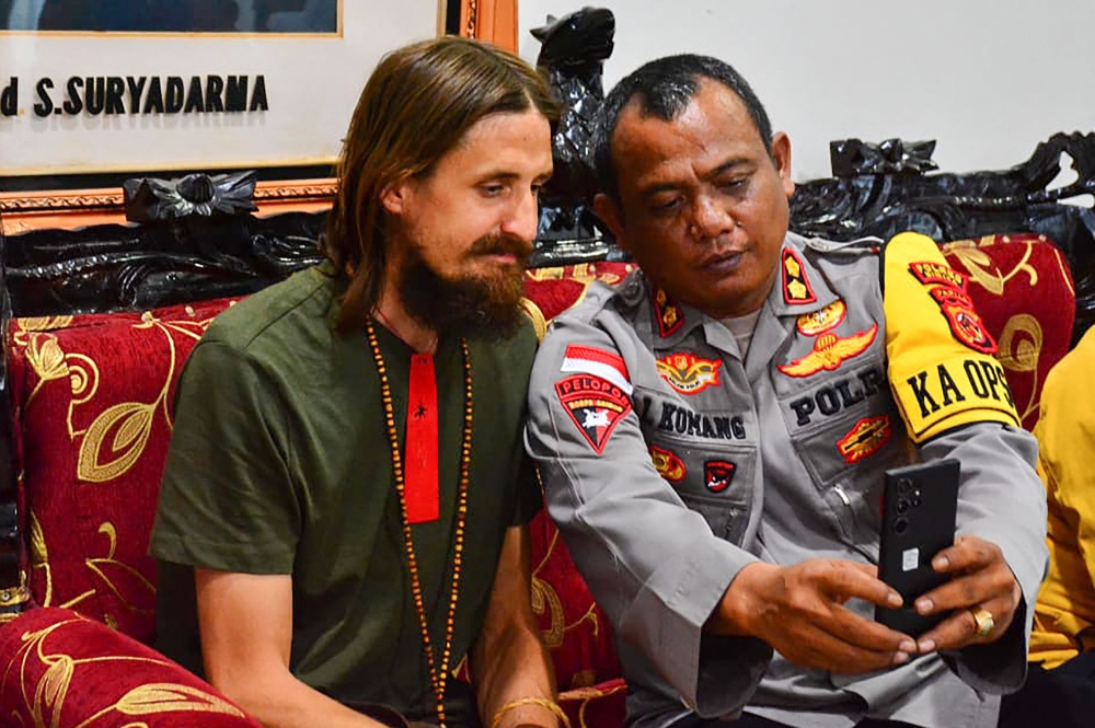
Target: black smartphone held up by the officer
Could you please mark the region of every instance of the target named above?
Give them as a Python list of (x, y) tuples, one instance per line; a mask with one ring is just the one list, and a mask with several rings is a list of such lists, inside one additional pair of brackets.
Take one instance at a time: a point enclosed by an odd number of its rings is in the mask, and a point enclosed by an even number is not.
[(950, 577), (932, 568), (932, 558), (954, 544), (958, 511), (957, 460), (934, 460), (886, 471), (878, 578), (894, 587), (904, 605), (875, 608), (875, 620), (913, 637), (946, 614), (921, 616), (913, 601)]

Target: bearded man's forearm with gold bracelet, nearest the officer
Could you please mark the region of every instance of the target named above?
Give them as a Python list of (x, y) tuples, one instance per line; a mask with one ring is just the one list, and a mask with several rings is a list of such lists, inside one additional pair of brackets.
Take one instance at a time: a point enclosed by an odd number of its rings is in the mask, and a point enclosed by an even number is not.
[[(471, 654), (480, 716), (488, 727), (507, 704), (522, 698), (555, 701), (555, 680), (548, 650), (535, 624), (514, 624), (505, 631), (484, 633)], [(507, 709), (499, 728), (558, 725), (544, 705), (528, 703)]]

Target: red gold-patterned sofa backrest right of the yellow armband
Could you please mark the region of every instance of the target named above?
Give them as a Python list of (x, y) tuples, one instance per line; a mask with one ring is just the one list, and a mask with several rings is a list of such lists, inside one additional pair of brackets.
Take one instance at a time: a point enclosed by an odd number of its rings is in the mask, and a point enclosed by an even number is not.
[(1038, 421), (1041, 385), (1069, 350), (1076, 293), (1068, 261), (1045, 235), (988, 235), (943, 245), (999, 345), (1023, 427)]

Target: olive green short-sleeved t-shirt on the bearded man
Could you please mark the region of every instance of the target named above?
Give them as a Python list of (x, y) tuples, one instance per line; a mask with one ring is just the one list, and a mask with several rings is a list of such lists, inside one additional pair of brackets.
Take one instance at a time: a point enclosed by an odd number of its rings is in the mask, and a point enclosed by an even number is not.
[[(334, 330), (343, 287), (327, 269), (227, 310), (186, 362), (150, 547), (160, 559), (157, 647), (201, 674), (193, 567), (291, 574), (293, 674), (344, 703), (429, 716), (380, 380), (365, 333)], [(376, 331), (402, 449), (412, 351)], [(472, 458), (453, 668), (479, 633), (507, 527), (541, 504), (521, 442), (532, 327), (469, 345)], [(439, 662), (465, 384), (459, 340), (443, 332), (435, 369), (440, 518), (412, 531)]]

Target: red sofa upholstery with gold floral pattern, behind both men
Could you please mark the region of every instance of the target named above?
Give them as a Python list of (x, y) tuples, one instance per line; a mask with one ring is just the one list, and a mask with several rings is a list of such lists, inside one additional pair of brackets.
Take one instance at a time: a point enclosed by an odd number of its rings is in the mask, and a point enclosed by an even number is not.
[[(944, 246), (1001, 344), (1029, 427), (1048, 368), (1069, 348), (1069, 266), (1037, 235)], [(539, 325), (622, 263), (528, 274)], [(0, 724), (255, 725), (147, 645), (155, 564), (146, 550), (182, 363), (233, 299), (145, 312), (16, 317), (9, 336), (15, 463), (27, 535), (25, 614), (0, 629)], [(623, 724), (612, 636), (549, 518), (533, 522), (533, 602), (574, 725)], [(85, 723), (99, 716), (91, 723)], [(96, 723), (97, 721), (97, 723)]]

